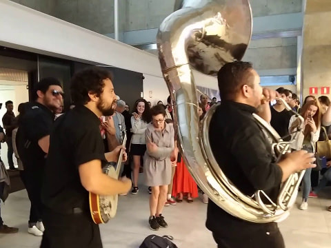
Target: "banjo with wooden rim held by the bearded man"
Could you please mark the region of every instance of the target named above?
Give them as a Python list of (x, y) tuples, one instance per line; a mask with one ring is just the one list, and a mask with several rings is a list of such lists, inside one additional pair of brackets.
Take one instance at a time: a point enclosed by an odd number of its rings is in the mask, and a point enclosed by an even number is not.
[[(122, 130), (121, 124), (119, 124), (119, 129), (121, 130), (121, 141), (122, 145), (126, 145), (126, 132)], [(119, 153), (119, 159), (117, 163), (110, 162), (103, 167), (103, 173), (107, 174), (111, 178), (119, 179), (119, 172), (121, 171), (123, 159), (123, 149)], [(117, 202), (118, 195), (113, 196), (101, 196), (99, 194), (94, 194), (89, 192), (89, 202), (90, 202), (90, 212), (92, 220), (95, 224), (108, 223), (110, 218), (114, 218), (117, 212)]]

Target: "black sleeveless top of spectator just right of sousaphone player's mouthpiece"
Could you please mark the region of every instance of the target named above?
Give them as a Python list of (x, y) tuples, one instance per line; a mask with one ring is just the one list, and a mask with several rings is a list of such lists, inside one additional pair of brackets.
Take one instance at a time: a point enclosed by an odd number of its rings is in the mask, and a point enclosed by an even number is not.
[[(271, 121), (270, 125), (274, 127), (274, 130), (277, 131), (279, 136), (285, 137), (288, 135), (288, 125), (290, 124), (290, 118), (293, 115), (292, 112), (288, 110), (283, 110), (278, 112), (274, 110), (274, 107), (271, 107)], [(290, 141), (290, 136), (284, 138), (284, 141)]]

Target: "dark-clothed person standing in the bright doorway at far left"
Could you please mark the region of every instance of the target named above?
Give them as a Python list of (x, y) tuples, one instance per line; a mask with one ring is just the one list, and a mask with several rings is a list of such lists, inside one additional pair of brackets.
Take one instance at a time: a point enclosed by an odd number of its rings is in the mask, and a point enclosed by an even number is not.
[(12, 130), (15, 128), (15, 114), (12, 112), (14, 110), (14, 105), (12, 101), (6, 101), (6, 109), (7, 112), (6, 114), (3, 115), (2, 117), (2, 123), (3, 123), (3, 128), (6, 130), (6, 143), (8, 146), (8, 152), (7, 152), (7, 157), (8, 157), (8, 164), (9, 164), (9, 169), (14, 170), (14, 162), (12, 161), (12, 154), (13, 154), (13, 149), (12, 149)]

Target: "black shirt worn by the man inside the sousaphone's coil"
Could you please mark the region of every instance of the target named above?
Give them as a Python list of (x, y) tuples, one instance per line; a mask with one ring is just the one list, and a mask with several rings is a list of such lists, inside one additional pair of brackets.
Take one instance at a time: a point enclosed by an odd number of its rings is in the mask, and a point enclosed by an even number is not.
[[(282, 172), (254, 112), (250, 105), (222, 101), (210, 122), (210, 147), (225, 176), (243, 194), (262, 189), (276, 200)], [(209, 200), (206, 226), (211, 231), (235, 237), (238, 231), (243, 234), (260, 225), (236, 218)]]

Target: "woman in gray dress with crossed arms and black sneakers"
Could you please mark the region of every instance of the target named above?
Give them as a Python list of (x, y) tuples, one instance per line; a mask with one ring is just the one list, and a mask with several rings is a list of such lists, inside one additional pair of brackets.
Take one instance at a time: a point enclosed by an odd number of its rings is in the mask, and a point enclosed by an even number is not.
[(152, 187), (150, 229), (156, 231), (159, 227), (168, 227), (161, 213), (171, 180), (170, 156), (174, 153), (174, 127), (165, 123), (164, 107), (156, 105), (150, 111), (152, 123), (148, 124), (145, 132), (147, 149), (144, 156), (144, 174), (146, 185)]

